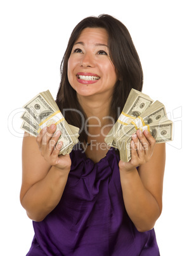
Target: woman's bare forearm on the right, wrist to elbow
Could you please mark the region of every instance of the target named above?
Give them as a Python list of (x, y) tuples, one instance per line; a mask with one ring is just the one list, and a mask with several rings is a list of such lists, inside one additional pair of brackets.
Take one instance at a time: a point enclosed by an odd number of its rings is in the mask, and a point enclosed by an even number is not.
[(150, 230), (161, 209), (155, 197), (144, 187), (137, 169), (120, 169), (122, 194), (126, 211), (140, 232)]

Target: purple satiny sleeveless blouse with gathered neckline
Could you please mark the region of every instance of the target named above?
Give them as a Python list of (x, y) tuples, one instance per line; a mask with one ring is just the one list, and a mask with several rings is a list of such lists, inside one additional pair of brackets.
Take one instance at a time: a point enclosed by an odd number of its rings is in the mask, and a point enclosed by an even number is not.
[(70, 158), (62, 199), (42, 222), (33, 222), (27, 256), (159, 256), (154, 229), (138, 232), (125, 210), (117, 150), (94, 164), (75, 145)]

